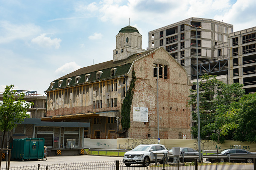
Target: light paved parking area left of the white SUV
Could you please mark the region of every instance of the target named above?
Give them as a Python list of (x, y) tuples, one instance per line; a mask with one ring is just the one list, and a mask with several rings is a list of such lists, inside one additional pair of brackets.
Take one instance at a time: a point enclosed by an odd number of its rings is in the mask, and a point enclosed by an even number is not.
[[(113, 161), (113, 160), (123, 160), (123, 157), (116, 156), (98, 156), (98, 155), (74, 155), (74, 156), (49, 156), (44, 158), (44, 160), (13, 160), (10, 166), (28, 166), (37, 164), (59, 164), (59, 163), (73, 163), (73, 162), (99, 162), (99, 161)], [(1, 167), (6, 166), (6, 161), (2, 162)]]

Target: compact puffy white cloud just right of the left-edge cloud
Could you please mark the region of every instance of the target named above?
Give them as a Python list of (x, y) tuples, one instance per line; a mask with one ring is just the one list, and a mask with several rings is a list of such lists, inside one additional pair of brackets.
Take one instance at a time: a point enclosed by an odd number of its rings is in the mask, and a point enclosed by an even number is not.
[(32, 39), (31, 42), (41, 47), (47, 47), (47, 48), (54, 47), (55, 49), (59, 49), (61, 40), (57, 38), (51, 39), (50, 37), (45, 37), (45, 35), (46, 34), (42, 34)]

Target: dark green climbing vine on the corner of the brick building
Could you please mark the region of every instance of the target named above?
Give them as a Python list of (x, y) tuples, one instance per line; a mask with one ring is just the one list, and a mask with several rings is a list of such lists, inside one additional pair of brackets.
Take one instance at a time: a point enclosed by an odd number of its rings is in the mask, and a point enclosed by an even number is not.
[(133, 71), (132, 72), (131, 84), (130, 84), (129, 89), (126, 91), (123, 107), (122, 107), (122, 110), (121, 110), (121, 115), (122, 115), (121, 124), (122, 124), (122, 127), (125, 128), (125, 129), (129, 129), (130, 125), (131, 125), (130, 113), (131, 113), (131, 105), (132, 105), (132, 98), (133, 98), (133, 90), (134, 90), (134, 86), (135, 86), (135, 81), (136, 81), (136, 77), (135, 77), (135, 73)]

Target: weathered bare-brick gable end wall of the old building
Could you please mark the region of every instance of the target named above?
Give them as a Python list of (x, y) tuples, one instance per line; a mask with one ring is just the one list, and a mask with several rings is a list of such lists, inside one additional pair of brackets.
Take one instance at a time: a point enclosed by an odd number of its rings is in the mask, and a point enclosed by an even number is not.
[(156, 60), (169, 63), (168, 78), (158, 78), (159, 98), (159, 137), (178, 139), (179, 133), (190, 135), (190, 109), (187, 106), (189, 81), (186, 71), (163, 49), (135, 62), (137, 81), (132, 107), (147, 107), (149, 122), (133, 122), (129, 138), (157, 138), (157, 81), (153, 77), (153, 64)]

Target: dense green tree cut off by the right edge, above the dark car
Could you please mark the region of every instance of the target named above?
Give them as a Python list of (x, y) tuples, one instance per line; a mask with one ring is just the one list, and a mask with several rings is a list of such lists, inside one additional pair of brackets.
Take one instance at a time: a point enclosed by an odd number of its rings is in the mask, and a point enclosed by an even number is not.
[(234, 139), (256, 142), (256, 93), (244, 95), (237, 111), (237, 128)]

